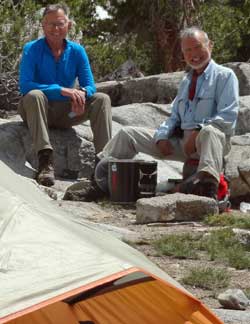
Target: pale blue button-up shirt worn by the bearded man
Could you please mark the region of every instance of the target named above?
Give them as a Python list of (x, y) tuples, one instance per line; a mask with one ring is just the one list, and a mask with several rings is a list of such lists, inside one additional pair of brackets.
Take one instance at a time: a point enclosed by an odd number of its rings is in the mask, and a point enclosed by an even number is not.
[(231, 136), (239, 111), (239, 84), (235, 73), (211, 60), (198, 77), (193, 100), (189, 100), (190, 71), (182, 80), (172, 103), (171, 116), (156, 130), (154, 139), (168, 139), (176, 127), (183, 130), (213, 125)]

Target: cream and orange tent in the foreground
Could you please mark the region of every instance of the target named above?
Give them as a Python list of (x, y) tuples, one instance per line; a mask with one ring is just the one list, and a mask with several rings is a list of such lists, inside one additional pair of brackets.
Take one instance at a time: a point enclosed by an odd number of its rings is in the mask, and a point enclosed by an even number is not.
[(222, 323), (141, 253), (0, 175), (0, 323)]

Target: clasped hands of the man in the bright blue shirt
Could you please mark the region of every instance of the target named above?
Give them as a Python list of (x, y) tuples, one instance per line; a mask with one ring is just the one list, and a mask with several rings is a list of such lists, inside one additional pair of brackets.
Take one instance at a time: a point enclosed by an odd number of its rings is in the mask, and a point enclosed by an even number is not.
[(85, 111), (86, 93), (82, 90), (62, 88), (62, 96), (69, 97), (71, 99), (72, 111), (76, 113), (77, 116), (83, 115)]

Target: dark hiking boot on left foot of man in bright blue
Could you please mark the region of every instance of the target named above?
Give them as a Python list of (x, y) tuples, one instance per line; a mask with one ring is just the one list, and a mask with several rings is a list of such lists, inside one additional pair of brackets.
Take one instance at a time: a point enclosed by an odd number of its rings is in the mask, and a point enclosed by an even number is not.
[(38, 152), (38, 174), (36, 181), (46, 187), (51, 187), (55, 184), (52, 150), (45, 149)]

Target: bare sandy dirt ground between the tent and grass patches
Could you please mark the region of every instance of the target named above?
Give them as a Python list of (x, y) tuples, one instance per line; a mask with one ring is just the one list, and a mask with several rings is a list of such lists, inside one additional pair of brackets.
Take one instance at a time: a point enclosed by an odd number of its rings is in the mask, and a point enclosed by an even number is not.
[[(162, 235), (170, 233), (197, 233), (207, 232), (208, 227), (198, 222), (185, 223), (164, 223), (164, 224), (136, 224), (135, 205), (114, 205), (109, 202), (84, 203), (57, 200), (54, 202), (70, 213), (85, 214), (85, 219), (98, 224), (116, 226), (124, 231), (129, 230), (134, 234), (133, 239), (128, 238), (129, 244), (145, 254), (151, 261), (166, 271), (171, 277), (179, 281), (189, 292), (199, 298), (204, 304), (211, 308), (221, 308), (217, 301), (217, 295), (226, 288), (216, 292), (184, 285), (181, 280), (190, 268), (196, 266), (209, 265), (212, 267), (223, 267), (220, 262), (208, 262), (203, 260), (177, 259), (168, 256), (157, 256), (154, 247), (150, 244), (152, 240), (160, 238)], [(250, 271), (236, 270), (228, 268), (231, 276), (230, 284), (227, 288), (250, 289)]]

